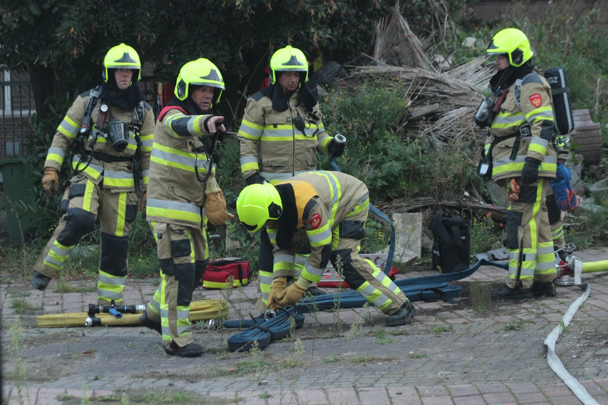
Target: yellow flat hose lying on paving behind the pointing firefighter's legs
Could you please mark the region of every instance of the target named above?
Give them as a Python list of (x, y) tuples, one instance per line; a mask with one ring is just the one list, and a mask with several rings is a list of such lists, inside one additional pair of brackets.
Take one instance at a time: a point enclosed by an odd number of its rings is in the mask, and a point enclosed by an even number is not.
[[(196, 322), (204, 319), (226, 319), (228, 316), (228, 301), (221, 299), (204, 299), (190, 303), (190, 321)], [(62, 328), (69, 326), (85, 326), (86, 312), (57, 313), (36, 316), (36, 327)], [(96, 318), (102, 320), (105, 326), (140, 325), (141, 314), (125, 313), (122, 318), (116, 318), (109, 313), (98, 313)]]

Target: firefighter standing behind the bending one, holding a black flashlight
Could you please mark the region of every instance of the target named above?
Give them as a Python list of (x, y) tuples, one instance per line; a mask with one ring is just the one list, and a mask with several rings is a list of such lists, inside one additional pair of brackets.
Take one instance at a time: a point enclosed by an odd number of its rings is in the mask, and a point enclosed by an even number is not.
[[(286, 46), (270, 60), (270, 84), (247, 100), (237, 139), (241, 149), (241, 171), (247, 185), (276, 184), (296, 174), (317, 169), (317, 151), (338, 157), (344, 144), (326, 134), (316, 95), (306, 86), (308, 61), (304, 53)], [(335, 148), (335, 149), (334, 149)], [(261, 234), (260, 289), (264, 311), (272, 282), (272, 246), (268, 235)], [(300, 252), (306, 254), (306, 250)], [(302, 268), (305, 256), (298, 255)], [(309, 293), (324, 291), (311, 285)]]

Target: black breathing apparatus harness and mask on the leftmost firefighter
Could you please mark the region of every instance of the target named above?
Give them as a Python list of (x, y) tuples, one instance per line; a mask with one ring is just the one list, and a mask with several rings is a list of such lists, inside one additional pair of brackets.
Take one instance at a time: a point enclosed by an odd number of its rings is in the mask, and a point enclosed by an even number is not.
[[(93, 131), (92, 124), (92, 112), (99, 104), (99, 95), (101, 92), (101, 86), (95, 87), (89, 93), (89, 100), (85, 107), (85, 116), (83, 117), (80, 131), (78, 131), (77, 137), (71, 145), (71, 155), (69, 159), (70, 168), (72, 173), (70, 177), (74, 177), (86, 170), (91, 165), (93, 158), (102, 160), (103, 162), (132, 162), (133, 163), (133, 180), (135, 191), (140, 191), (139, 180), (142, 179), (142, 175), (139, 171), (139, 159), (140, 159), (140, 148), (142, 142), (140, 140), (139, 130), (143, 125), (144, 119), (144, 106), (143, 101), (139, 103), (135, 110), (131, 112), (131, 124), (126, 123), (122, 120), (110, 120), (107, 124), (105, 123), (106, 117), (108, 116), (109, 106), (105, 101), (102, 101), (99, 105), (99, 111), (97, 114), (97, 122), (95, 123), (96, 131)], [(129, 145), (128, 139), (130, 130), (133, 129), (135, 140), (137, 143), (136, 154), (134, 157), (117, 157), (103, 152), (95, 152), (93, 150), (95, 143), (97, 143), (98, 137), (106, 138), (108, 145), (116, 152), (123, 152)], [(85, 148), (86, 142), (89, 142), (89, 149)], [(88, 160), (84, 167), (74, 165), (74, 155), (79, 155), (81, 159), (85, 159), (88, 155)]]

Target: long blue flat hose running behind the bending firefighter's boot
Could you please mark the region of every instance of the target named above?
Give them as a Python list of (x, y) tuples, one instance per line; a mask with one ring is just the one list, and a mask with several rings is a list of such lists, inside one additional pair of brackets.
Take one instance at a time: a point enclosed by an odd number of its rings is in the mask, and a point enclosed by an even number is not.
[[(443, 299), (448, 301), (450, 298), (460, 296), (460, 287), (447, 284), (448, 281), (455, 281), (466, 278), (473, 274), (482, 265), (492, 265), (508, 269), (508, 263), (496, 263), (486, 259), (480, 259), (471, 268), (454, 273), (433, 274), (432, 276), (410, 277), (399, 279), (395, 284), (399, 287), (407, 299), (410, 301), (437, 301)], [(367, 300), (357, 291), (348, 290), (335, 294), (317, 295), (303, 298), (296, 306), (295, 310), (306, 313), (313, 308), (326, 310), (331, 308), (362, 308)]]

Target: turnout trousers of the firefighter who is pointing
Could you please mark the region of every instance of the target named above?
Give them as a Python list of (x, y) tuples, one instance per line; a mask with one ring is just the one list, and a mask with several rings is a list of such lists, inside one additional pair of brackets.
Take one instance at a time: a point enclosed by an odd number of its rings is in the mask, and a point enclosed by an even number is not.
[(209, 262), (207, 233), (202, 226), (151, 225), (161, 263), (161, 285), (148, 303), (146, 315), (161, 323), (162, 344), (171, 350), (171, 341), (181, 347), (194, 342), (190, 302)]

